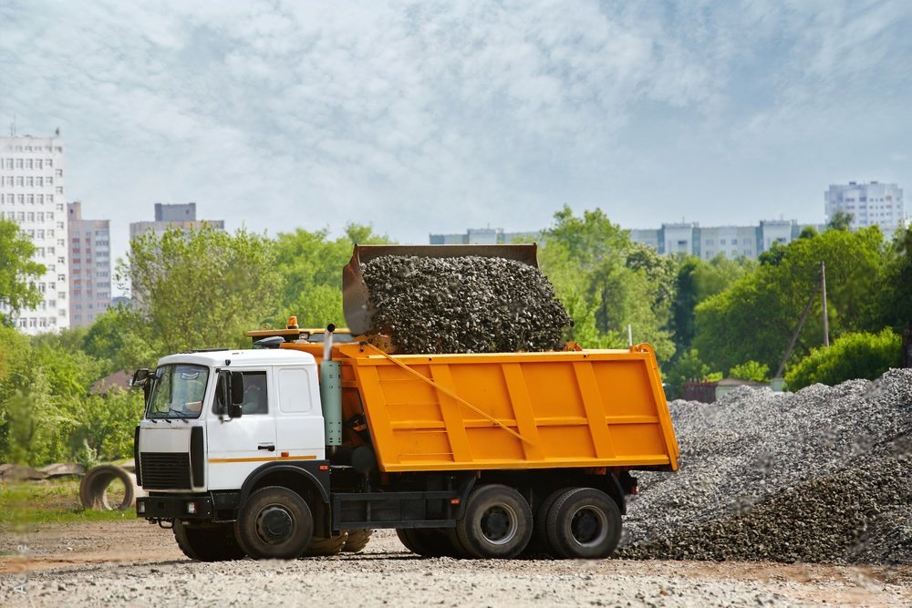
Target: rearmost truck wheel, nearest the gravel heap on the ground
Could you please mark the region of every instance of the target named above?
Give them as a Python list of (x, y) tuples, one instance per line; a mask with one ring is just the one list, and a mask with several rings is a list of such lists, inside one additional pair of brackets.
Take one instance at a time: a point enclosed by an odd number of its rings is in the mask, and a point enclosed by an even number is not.
[(546, 532), (559, 557), (600, 560), (617, 549), (621, 512), (600, 489), (565, 489), (548, 511)]

